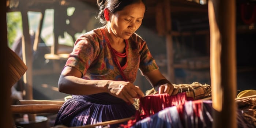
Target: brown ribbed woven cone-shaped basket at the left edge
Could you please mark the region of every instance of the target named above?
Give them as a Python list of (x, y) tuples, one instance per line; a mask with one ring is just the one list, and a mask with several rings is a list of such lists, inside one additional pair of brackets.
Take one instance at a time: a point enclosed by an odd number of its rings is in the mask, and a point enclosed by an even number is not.
[(8, 68), (10, 71), (9, 74), (11, 77), (11, 86), (13, 86), (25, 74), (27, 71), (27, 66), (10, 48), (8, 48), (8, 53), (10, 53), (10, 57), (7, 58), (7, 61), (9, 61)]

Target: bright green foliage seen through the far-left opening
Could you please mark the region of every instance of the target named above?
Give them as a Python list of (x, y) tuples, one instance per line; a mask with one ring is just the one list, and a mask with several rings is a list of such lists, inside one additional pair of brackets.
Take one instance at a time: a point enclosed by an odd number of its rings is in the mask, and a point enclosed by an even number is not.
[(22, 17), (20, 12), (7, 13), (7, 38), (8, 46), (12, 46), (18, 33), (22, 31)]

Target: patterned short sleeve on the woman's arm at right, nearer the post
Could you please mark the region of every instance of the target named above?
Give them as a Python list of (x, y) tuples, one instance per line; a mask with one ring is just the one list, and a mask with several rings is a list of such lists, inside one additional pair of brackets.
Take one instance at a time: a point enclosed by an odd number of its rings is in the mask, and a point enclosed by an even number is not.
[(143, 75), (159, 68), (155, 63), (155, 59), (151, 55), (146, 42), (143, 39), (139, 44), (139, 54), (140, 54), (139, 68)]

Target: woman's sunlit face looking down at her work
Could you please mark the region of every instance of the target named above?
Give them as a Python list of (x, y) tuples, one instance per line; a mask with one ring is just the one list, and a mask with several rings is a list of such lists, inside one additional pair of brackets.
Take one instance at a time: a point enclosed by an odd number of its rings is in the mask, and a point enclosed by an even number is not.
[(127, 5), (123, 10), (110, 14), (110, 29), (116, 37), (128, 39), (142, 24), (146, 7), (140, 3)]

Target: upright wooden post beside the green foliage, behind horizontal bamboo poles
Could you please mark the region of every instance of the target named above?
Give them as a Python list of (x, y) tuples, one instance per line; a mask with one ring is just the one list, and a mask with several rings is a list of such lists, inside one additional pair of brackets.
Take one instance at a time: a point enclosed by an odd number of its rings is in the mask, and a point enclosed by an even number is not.
[[(26, 3), (22, 2), (21, 5), (21, 15), (22, 15), (22, 28), (23, 28), (23, 36), (22, 36), (22, 58), (24, 63), (27, 65), (27, 71), (23, 76), (23, 81), (25, 84), (25, 99), (33, 99), (33, 52), (32, 52), (32, 44), (30, 41), (29, 34), (29, 20), (26, 10)], [(35, 115), (29, 114), (29, 120), (34, 121)]]

